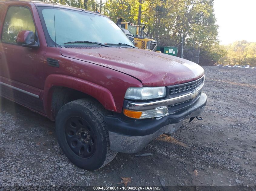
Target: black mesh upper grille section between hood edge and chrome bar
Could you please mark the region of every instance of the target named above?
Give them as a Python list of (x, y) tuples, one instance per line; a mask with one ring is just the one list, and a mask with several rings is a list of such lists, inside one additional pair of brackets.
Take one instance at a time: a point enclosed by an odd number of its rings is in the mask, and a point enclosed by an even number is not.
[(191, 81), (185, 84), (178, 84), (174, 86), (169, 86), (169, 94), (185, 93), (191, 91), (194, 88), (200, 87), (204, 82), (204, 76), (198, 80)]

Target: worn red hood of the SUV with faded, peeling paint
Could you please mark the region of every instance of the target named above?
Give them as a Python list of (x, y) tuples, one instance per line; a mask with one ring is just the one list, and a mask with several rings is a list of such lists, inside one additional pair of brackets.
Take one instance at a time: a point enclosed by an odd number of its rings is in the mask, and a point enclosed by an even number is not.
[(204, 69), (194, 62), (134, 48), (62, 48), (62, 56), (125, 73), (143, 86), (168, 86), (196, 80)]

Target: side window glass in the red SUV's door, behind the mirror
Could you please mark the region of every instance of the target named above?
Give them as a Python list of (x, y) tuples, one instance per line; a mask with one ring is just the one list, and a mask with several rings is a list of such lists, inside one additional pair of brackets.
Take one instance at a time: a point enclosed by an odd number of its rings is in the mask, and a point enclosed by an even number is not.
[(35, 24), (31, 12), (26, 7), (12, 6), (8, 9), (2, 30), (2, 42), (16, 44), (21, 30), (35, 32)]

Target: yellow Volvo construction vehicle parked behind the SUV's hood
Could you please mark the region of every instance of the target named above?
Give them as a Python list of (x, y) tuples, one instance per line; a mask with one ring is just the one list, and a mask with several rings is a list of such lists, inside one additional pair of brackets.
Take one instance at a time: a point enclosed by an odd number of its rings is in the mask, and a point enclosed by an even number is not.
[[(141, 49), (148, 49), (152, 51), (156, 51), (157, 42), (156, 40), (145, 38), (143, 36), (143, 31), (145, 26), (141, 27), (140, 35), (139, 35), (139, 25), (135, 25), (128, 22), (122, 22), (122, 18), (119, 18), (117, 21), (117, 25), (121, 29), (128, 30), (134, 36), (135, 46)], [(160, 51), (157, 51), (160, 52)]]

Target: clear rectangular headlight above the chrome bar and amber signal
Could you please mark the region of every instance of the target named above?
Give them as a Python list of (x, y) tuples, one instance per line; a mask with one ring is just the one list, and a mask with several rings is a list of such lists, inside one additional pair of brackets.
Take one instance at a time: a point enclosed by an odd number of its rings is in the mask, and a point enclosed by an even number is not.
[(125, 99), (130, 100), (149, 100), (165, 97), (165, 87), (141, 87), (128, 88), (125, 93)]

